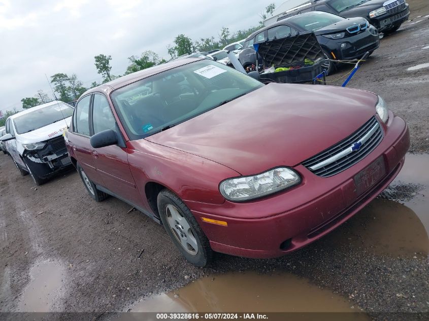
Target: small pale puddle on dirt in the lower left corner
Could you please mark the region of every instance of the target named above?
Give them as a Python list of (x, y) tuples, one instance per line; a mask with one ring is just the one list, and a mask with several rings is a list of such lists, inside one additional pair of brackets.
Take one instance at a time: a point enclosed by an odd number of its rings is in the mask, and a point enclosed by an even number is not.
[(30, 269), (31, 281), (25, 288), (19, 304), (19, 312), (49, 312), (61, 287), (61, 269), (53, 262), (35, 264)]

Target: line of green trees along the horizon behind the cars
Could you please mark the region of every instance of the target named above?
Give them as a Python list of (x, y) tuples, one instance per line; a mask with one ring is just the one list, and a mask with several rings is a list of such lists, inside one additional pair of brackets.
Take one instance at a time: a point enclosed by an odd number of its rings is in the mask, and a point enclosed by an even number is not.
[[(222, 27), (218, 33), (218, 39), (215, 37), (209, 38), (200, 38), (199, 40), (192, 41), (185, 34), (181, 33), (176, 36), (173, 40), (173, 44), (167, 45), (167, 52), (170, 55), (171, 59), (177, 58), (181, 55), (190, 54), (193, 52), (207, 52), (215, 49), (221, 49), (224, 46), (234, 43), (237, 41), (241, 41), (252, 32), (259, 29), (263, 26), (263, 20), (265, 20), (268, 16), (273, 15), (275, 10), (275, 4), (270, 4), (265, 8), (259, 17), (261, 20), (259, 21), (258, 26), (250, 27), (244, 30), (238, 30), (235, 33), (230, 33), (228, 27)], [(166, 62), (165, 59), (161, 58), (157, 53), (152, 50), (144, 51), (140, 56), (130, 56), (128, 57), (129, 65), (127, 66), (125, 73), (123, 75), (112, 75), (111, 70), (112, 66), (110, 65), (110, 61), (112, 60), (112, 56), (99, 54), (94, 57), (94, 65), (97, 69), (97, 73), (103, 77), (102, 84), (119, 78), (124, 75), (128, 75), (131, 73), (138, 72), (139, 70), (143, 70), (161, 63)], [(51, 97), (46, 94), (43, 90), (38, 90), (37, 93), (33, 97), (25, 97), (21, 99), (22, 108), (28, 109), (39, 104), (52, 101), (54, 99), (61, 100), (64, 102), (70, 102), (79, 98), (81, 94), (83, 94), (87, 89), (96, 87), (100, 84), (96, 82), (92, 82), (89, 88), (83, 86), (83, 83), (77, 78), (76, 74), (67, 75), (64, 73), (58, 73), (50, 76), (50, 82), (52, 85), (52, 89), (54, 91), (54, 96)], [(56, 94), (58, 96), (56, 96)], [(17, 111), (14, 109), (13, 111), (6, 111), (5, 117), (0, 119), (0, 126), (4, 126), (4, 122), (7, 117), (15, 114)]]

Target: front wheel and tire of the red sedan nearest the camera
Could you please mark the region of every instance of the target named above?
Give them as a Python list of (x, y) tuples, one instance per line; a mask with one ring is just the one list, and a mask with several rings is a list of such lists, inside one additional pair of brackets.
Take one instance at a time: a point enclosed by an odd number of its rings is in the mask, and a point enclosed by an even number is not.
[(168, 189), (159, 192), (157, 202), (162, 224), (186, 260), (196, 266), (209, 264), (213, 259), (209, 239), (185, 203)]

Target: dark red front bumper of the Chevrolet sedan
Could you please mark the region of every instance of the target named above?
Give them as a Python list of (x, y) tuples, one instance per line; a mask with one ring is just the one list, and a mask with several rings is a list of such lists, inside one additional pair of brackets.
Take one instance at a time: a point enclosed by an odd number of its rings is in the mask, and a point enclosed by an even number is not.
[[(387, 125), (383, 125), (385, 136), (377, 148), (337, 175), (319, 177), (299, 164), (294, 169), (301, 174), (303, 182), (284, 193), (247, 203), (186, 203), (214, 251), (251, 258), (285, 255), (350, 219), (399, 173), (409, 148), (409, 130), (401, 118), (391, 113)], [(354, 176), (381, 155), (386, 174), (370, 190), (356, 196)], [(203, 222), (201, 217), (226, 221), (227, 226)]]

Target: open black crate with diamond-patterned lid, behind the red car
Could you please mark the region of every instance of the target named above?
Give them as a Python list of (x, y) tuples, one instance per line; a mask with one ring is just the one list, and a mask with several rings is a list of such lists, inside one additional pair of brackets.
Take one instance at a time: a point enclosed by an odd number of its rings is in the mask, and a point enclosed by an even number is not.
[[(258, 54), (262, 58), (264, 69), (273, 65), (275, 68), (294, 68), (278, 73), (261, 74), (262, 82), (296, 83), (312, 81), (322, 73), (322, 63), (325, 59), (314, 32), (304, 32), (292, 37), (261, 43)], [(306, 64), (306, 60), (307, 62), (312, 61), (313, 64)], [(296, 68), (298, 66), (300, 68)]]

